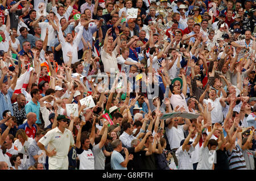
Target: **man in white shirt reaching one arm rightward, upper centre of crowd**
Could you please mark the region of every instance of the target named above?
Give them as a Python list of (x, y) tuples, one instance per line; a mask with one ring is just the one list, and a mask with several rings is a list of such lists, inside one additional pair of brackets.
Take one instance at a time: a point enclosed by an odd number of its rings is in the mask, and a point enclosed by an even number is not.
[(117, 63), (121, 65), (121, 71), (124, 71), (126, 77), (130, 72), (130, 65), (136, 65), (139, 69), (141, 68), (141, 64), (131, 58), (129, 58), (129, 48), (122, 49), (122, 55), (117, 57)]

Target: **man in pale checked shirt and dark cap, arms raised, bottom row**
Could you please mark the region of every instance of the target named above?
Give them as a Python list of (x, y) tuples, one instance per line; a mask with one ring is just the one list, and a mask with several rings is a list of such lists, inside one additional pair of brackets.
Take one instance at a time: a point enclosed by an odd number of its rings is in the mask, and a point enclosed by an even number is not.
[[(197, 130), (197, 137), (194, 142), (189, 141), (191, 138), (191, 133), (195, 130), (192, 125), (189, 127), (189, 134), (187, 138), (180, 142), (180, 147), (176, 151), (176, 157), (178, 160), (178, 170), (193, 170), (193, 163), (191, 159), (192, 151), (195, 151), (195, 146), (198, 144), (201, 137), (201, 128)], [(191, 145), (192, 144), (192, 145)]]

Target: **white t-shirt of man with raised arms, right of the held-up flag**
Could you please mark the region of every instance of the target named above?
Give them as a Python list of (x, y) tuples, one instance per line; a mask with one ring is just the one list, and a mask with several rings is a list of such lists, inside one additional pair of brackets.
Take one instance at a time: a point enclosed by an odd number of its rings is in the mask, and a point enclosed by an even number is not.
[(216, 98), (214, 101), (212, 99), (204, 99), (204, 104), (211, 103), (213, 110), (210, 112), (210, 115), (212, 117), (212, 124), (213, 123), (222, 123), (223, 121), (223, 113), (222, 113), (222, 106), (220, 103), (221, 98)]

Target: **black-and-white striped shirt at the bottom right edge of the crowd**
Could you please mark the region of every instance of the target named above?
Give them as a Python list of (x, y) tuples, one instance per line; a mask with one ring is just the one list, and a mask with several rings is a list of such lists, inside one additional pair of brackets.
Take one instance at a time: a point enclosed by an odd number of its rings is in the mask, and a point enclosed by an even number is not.
[(243, 157), (242, 149), (239, 145), (236, 145), (236, 148), (230, 151), (227, 151), (229, 169), (230, 170), (246, 170), (245, 157)]

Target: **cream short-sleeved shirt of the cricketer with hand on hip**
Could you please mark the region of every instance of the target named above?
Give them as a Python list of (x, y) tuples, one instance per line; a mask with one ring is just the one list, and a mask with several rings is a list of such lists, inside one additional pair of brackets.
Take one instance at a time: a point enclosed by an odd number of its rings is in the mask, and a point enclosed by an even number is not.
[(69, 146), (72, 146), (75, 141), (72, 132), (65, 128), (64, 133), (60, 131), (58, 127), (48, 131), (39, 142), (44, 146), (48, 145), (48, 148), (53, 150), (55, 148), (55, 158), (65, 158), (68, 155)]

